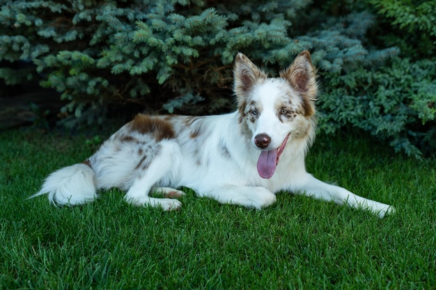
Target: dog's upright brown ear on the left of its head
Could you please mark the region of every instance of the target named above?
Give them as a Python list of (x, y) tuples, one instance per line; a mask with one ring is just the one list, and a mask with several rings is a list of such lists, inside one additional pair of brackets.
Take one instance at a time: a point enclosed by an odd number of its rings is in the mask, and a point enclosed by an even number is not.
[(267, 78), (265, 72), (259, 70), (247, 56), (241, 53), (236, 56), (233, 76), (235, 81), (233, 91), (238, 97), (245, 96), (259, 79)]

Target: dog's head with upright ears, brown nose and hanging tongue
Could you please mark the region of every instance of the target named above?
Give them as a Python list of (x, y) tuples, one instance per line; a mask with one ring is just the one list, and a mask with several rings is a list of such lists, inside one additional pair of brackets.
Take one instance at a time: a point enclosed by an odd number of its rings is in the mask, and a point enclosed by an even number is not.
[(318, 85), (311, 55), (303, 51), (279, 78), (268, 78), (238, 54), (234, 79), (242, 133), (260, 150), (259, 175), (270, 178), (288, 141), (308, 147), (313, 140)]

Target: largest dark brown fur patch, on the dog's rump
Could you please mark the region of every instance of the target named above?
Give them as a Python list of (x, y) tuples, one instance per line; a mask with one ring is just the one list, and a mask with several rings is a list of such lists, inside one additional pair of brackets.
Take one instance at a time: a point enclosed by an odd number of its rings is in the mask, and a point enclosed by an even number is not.
[(176, 136), (170, 122), (142, 114), (137, 115), (130, 122), (130, 129), (141, 134), (152, 134), (157, 142), (162, 139), (172, 139)]

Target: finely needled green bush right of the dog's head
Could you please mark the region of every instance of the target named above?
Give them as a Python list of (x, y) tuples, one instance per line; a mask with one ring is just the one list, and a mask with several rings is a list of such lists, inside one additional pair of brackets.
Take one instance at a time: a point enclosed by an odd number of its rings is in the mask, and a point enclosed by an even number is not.
[(328, 79), (319, 105), (322, 130), (352, 124), (417, 158), (436, 148), (434, 61), (394, 58), (387, 67), (360, 67)]

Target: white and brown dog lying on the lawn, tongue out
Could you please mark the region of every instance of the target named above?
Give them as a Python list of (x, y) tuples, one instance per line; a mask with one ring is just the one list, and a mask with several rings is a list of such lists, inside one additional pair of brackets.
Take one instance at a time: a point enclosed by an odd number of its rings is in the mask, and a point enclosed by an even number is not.
[[(226, 204), (262, 209), (280, 191), (368, 209), (380, 218), (389, 204), (362, 198), (306, 172), (304, 159), (316, 133), (318, 83), (309, 51), (268, 77), (244, 54), (234, 65), (233, 113), (208, 116), (137, 115), (83, 163), (61, 168), (41, 190), (49, 202), (75, 205), (98, 189), (127, 191), (138, 206), (179, 209), (182, 186)], [(163, 198), (150, 193), (161, 192)]]

